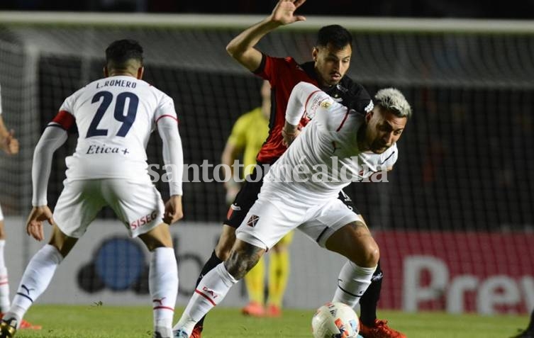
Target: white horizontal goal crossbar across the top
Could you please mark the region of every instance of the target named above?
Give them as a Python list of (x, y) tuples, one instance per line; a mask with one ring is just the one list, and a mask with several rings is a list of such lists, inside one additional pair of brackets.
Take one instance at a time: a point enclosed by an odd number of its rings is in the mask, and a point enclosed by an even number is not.
[[(303, 14), (305, 15), (305, 14)], [(306, 16), (306, 15), (305, 15)], [(136, 26), (169, 28), (246, 28), (262, 21), (260, 15), (168, 14), (168, 13), (89, 13), (0, 11), (6, 25), (45, 26)], [(289, 30), (316, 30), (337, 23), (353, 31), (421, 33), (526, 33), (534, 34), (531, 20), (465, 18), (391, 18), (363, 16), (306, 16), (306, 21), (282, 27)]]

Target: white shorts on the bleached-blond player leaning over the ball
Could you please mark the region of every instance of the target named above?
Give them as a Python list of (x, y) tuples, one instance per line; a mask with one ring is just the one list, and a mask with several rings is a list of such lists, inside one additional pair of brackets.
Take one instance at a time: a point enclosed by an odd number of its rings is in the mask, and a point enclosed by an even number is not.
[[(272, 197), (272, 196), (269, 196)], [(299, 204), (301, 201), (299, 201)], [(291, 205), (287, 198), (259, 198), (235, 231), (243, 242), (269, 249), (295, 228), (304, 232), (319, 246), (341, 227), (360, 220), (340, 199), (330, 198), (321, 205), (303, 208)]]

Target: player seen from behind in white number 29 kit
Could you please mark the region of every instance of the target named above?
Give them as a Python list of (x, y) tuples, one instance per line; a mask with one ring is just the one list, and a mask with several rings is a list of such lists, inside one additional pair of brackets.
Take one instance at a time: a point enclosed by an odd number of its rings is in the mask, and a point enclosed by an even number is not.
[[(143, 48), (134, 40), (117, 40), (107, 47), (104, 75), (65, 99), (35, 147), (33, 209), (26, 231), (35, 240), (43, 240), (43, 221), (48, 221), (52, 235), (24, 271), (1, 322), (0, 337), (13, 337), (57, 266), (105, 205), (114, 210), (130, 236), (139, 237), (152, 252), (153, 337), (172, 337), (178, 272), (169, 225), (183, 215), (182, 142), (174, 102), (141, 80)], [(66, 159), (65, 188), (52, 215), (46, 200), (52, 154), (67, 140), (66, 130), (74, 123), (79, 132), (77, 147)], [(165, 206), (150, 181), (146, 162), (145, 147), (155, 128), (171, 177)]]

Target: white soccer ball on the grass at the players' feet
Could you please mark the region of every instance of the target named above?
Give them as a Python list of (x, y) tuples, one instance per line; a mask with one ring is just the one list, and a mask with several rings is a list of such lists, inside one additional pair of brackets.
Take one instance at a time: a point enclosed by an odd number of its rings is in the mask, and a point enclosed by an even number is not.
[(311, 318), (315, 338), (356, 338), (360, 321), (356, 312), (343, 303), (326, 303)]

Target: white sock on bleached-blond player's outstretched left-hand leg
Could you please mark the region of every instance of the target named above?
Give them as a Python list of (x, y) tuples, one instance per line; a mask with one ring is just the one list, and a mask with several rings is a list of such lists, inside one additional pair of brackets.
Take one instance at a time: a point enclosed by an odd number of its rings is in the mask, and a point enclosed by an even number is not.
[(182, 317), (180, 317), (173, 329), (184, 329), (190, 335), (196, 322), (201, 320), (209, 310), (221, 303), (230, 288), (237, 282), (226, 271), (224, 263), (218, 264), (202, 278), (199, 286), (195, 289), (195, 293), (191, 296)]

